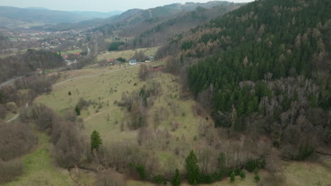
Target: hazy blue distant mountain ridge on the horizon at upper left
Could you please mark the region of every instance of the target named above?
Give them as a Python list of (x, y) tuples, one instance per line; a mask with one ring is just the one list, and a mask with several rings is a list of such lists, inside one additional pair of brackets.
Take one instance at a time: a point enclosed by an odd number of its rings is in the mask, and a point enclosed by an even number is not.
[(29, 23), (78, 23), (93, 18), (108, 18), (120, 14), (120, 11), (108, 13), (88, 11), (52, 11), (47, 8), (16, 8), (0, 6), (0, 25), (4, 27), (20, 27)]

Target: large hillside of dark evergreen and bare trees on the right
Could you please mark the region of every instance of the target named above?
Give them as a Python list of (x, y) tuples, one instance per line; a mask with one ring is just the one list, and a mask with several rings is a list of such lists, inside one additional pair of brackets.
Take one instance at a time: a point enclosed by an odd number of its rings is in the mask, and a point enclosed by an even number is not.
[(331, 144), (330, 10), (329, 0), (254, 1), (174, 37), (158, 56), (173, 54), (168, 70), (187, 72), (216, 126), (267, 134), (284, 156), (305, 159)]

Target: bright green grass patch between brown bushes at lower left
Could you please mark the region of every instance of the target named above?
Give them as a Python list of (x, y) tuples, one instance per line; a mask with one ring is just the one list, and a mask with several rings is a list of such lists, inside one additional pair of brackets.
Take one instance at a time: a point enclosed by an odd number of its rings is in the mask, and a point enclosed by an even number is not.
[(35, 186), (35, 185), (74, 185), (65, 169), (52, 164), (50, 149), (52, 144), (47, 135), (38, 132), (39, 144), (31, 154), (23, 156), (23, 175), (6, 186)]

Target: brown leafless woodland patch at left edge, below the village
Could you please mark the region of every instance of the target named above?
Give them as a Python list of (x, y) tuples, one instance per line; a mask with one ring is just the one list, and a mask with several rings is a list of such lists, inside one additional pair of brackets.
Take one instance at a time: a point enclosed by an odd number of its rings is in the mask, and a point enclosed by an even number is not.
[(24, 54), (0, 58), (0, 80), (8, 80), (11, 77), (33, 73), (37, 68), (56, 68), (64, 66), (61, 55), (52, 51), (28, 49)]

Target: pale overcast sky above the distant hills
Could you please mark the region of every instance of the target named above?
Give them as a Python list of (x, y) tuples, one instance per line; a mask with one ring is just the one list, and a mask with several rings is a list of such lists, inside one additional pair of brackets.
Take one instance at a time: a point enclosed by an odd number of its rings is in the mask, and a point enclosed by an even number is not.
[[(59, 11), (127, 11), (131, 8), (153, 8), (165, 4), (185, 2), (208, 2), (211, 0), (0, 0), (0, 6), (43, 7)], [(228, 0), (248, 2), (252, 0)]]

